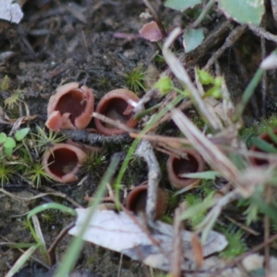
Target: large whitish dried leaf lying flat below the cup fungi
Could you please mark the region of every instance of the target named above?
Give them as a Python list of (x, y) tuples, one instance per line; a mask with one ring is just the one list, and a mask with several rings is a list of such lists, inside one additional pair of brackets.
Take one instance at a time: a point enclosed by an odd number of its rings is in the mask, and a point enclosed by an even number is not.
[[(77, 208), (78, 218), (71, 235), (78, 235), (89, 209)], [(140, 217), (136, 217), (143, 224)], [(157, 221), (152, 226), (152, 238), (159, 242), (159, 246), (150, 240), (149, 236), (126, 213), (97, 210), (89, 222), (89, 227), (83, 235), (83, 239), (100, 247), (118, 251), (133, 260), (140, 260), (146, 265), (157, 267), (166, 271), (170, 270), (170, 257), (173, 245), (173, 226)], [(182, 269), (195, 269), (194, 252), (191, 245), (192, 233), (182, 231), (184, 259)], [(204, 257), (215, 252), (222, 251), (228, 242), (224, 235), (211, 231), (203, 247)], [(186, 259), (185, 259), (186, 258)]]

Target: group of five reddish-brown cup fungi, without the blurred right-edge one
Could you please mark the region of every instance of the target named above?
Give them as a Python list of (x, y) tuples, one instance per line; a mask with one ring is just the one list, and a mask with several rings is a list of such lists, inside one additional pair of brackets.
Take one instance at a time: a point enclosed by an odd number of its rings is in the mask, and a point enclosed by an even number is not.
[[(128, 89), (114, 89), (102, 97), (96, 112), (107, 118), (118, 120), (127, 127), (134, 128), (138, 120), (134, 119), (132, 103), (139, 102), (138, 96)], [(60, 129), (84, 129), (91, 122), (94, 110), (93, 90), (81, 86), (78, 82), (64, 84), (57, 88), (48, 102), (46, 126), (54, 132)], [(99, 134), (113, 136), (125, 131), (94, 118)], [(191, 148), (183, 148), (181, 153), (186, 156), (177, 158), (173, 154), (168, 158), (166, 167), (168, 179), (175, 188), (184, 188), (199, 182), (197, 179), (182, 177), (186, 173), (204, 170), (202, 156)], [(86, 153), (73, 143), (58, 143), (46, 151), (42, 159), (44, 170), (53, 180), (68, 183), (78, 179), (77, 172)], [(184, 157), (183, 156), (183, 157)], [(70, 166), (69, 166), (70, 165)], [(126, 206), (137, 212), (145, 208), (148, 185), (136, 186), (127, 196)], [(157, 218), (166, 211), (167, 197), (162, 188), (158, 190)]]

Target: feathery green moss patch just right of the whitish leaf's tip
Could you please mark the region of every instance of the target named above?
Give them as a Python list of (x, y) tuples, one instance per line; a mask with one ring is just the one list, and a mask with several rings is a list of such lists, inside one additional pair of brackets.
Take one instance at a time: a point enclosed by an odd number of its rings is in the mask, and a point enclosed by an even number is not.
[(229, 227), (227, 230), (221, 230), (226, 236), (229, 244), (222, 252), (220, 252), (220, 257), (231, 260), (237, 256), (240, 256), (247, 251), (247, 245), (244, 241), (244, 232), (242, 230), (234, 231), (233, 228)]

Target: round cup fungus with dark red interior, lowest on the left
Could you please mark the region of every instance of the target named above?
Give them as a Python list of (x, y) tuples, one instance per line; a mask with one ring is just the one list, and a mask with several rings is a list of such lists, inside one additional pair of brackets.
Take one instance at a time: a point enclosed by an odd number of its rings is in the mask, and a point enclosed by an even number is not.
[(60, 183), (76, 181), (76, 173), (86, 154), (73, 145), (66, 143), (55, 144), (42, 157), (44, 171), (51, 179)]

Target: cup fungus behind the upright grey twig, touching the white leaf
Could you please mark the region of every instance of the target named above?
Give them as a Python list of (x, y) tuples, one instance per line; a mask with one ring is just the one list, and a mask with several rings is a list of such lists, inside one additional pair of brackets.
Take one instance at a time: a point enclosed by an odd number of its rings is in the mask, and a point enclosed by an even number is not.
[[(126, 199), (126, 208), (134, 213), (145, 212), (148, 185), (140, 185), (133, 188)], [(168, 198), (162, 188), (157, 190), (156, 217), (157, 220), (166, 211), (168, 207)]]

